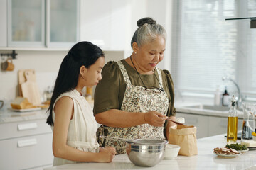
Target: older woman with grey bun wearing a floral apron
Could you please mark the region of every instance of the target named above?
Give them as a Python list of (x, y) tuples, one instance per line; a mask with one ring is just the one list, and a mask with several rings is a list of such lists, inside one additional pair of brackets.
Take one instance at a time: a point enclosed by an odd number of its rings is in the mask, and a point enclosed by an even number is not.
[[(166, 31), (152, 18), (137, 21), (131, 46), (132, 55), (108, 62), (102, 81), (95, 89), (94, 113), (101, 147), (116, 147), (125, 153), (124, 139), (168, 139), (166, 119), (175, 120), (174, 85), (167, 70), (156, 68), (164, 58)], [(107, 137), (100, 137), (107, 136)]]

